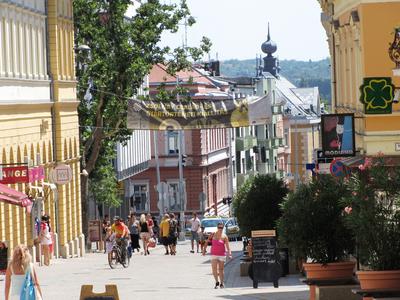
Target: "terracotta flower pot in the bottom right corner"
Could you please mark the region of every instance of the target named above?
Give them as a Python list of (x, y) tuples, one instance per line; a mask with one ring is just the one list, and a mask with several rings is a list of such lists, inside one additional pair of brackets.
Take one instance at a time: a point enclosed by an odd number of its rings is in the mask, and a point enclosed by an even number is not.
[[(400, 270), (396, 271), (359, 271), (357, 272), (361, 289), (394, 289), (400, 286)], [(372, 299), (364, 297), (364, 300)]]

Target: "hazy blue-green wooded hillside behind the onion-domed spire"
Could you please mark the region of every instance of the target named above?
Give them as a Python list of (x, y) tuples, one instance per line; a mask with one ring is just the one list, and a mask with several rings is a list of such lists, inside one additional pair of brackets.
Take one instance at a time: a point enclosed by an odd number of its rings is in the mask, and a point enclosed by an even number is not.
[[(330, 59), (319, 61), (281, 60), (282, 76), (297, 87), (319, 87), (321, 98), (331, 102)], [(225, 60), (221, 62), (221, 74), (227, 77), (255, 76), (255, 59)]]

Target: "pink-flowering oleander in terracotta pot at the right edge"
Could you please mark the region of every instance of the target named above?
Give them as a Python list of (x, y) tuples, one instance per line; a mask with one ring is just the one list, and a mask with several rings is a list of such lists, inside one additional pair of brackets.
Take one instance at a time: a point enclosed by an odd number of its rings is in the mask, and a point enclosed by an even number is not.
[(357, 243), (362, 289), (400, 286), (400, 166), (366, 158), (347, 183), (346, 225)]

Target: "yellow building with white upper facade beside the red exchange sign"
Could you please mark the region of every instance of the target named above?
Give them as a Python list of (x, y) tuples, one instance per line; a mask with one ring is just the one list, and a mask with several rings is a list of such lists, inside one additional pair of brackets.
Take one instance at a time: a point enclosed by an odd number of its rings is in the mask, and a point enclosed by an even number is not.
[[(35, 200), (31, 214), (0, 188), (0, 240), (10, 249), (33, 246), (34, 218), (46, 213), (59, 255), (84, 253), (73, 49), (72, 0), (0, 2), (0, 164), (45, 170), (43, 180), (7, 185)], [(69, 183), (49, 183), (57, 165), (70, 167)]]

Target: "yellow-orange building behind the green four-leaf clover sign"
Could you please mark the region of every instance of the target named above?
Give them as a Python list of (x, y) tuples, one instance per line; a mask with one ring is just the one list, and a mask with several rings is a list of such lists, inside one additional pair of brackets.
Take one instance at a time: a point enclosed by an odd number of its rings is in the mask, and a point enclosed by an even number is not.
[(332, 57), (334, 110), (355, 114), (360, 154), (399, 155), (400, 104), (394, 90), (400, 77), (394, 76), (388, 49), (400, 27), (400, 1), (319, 2)]

